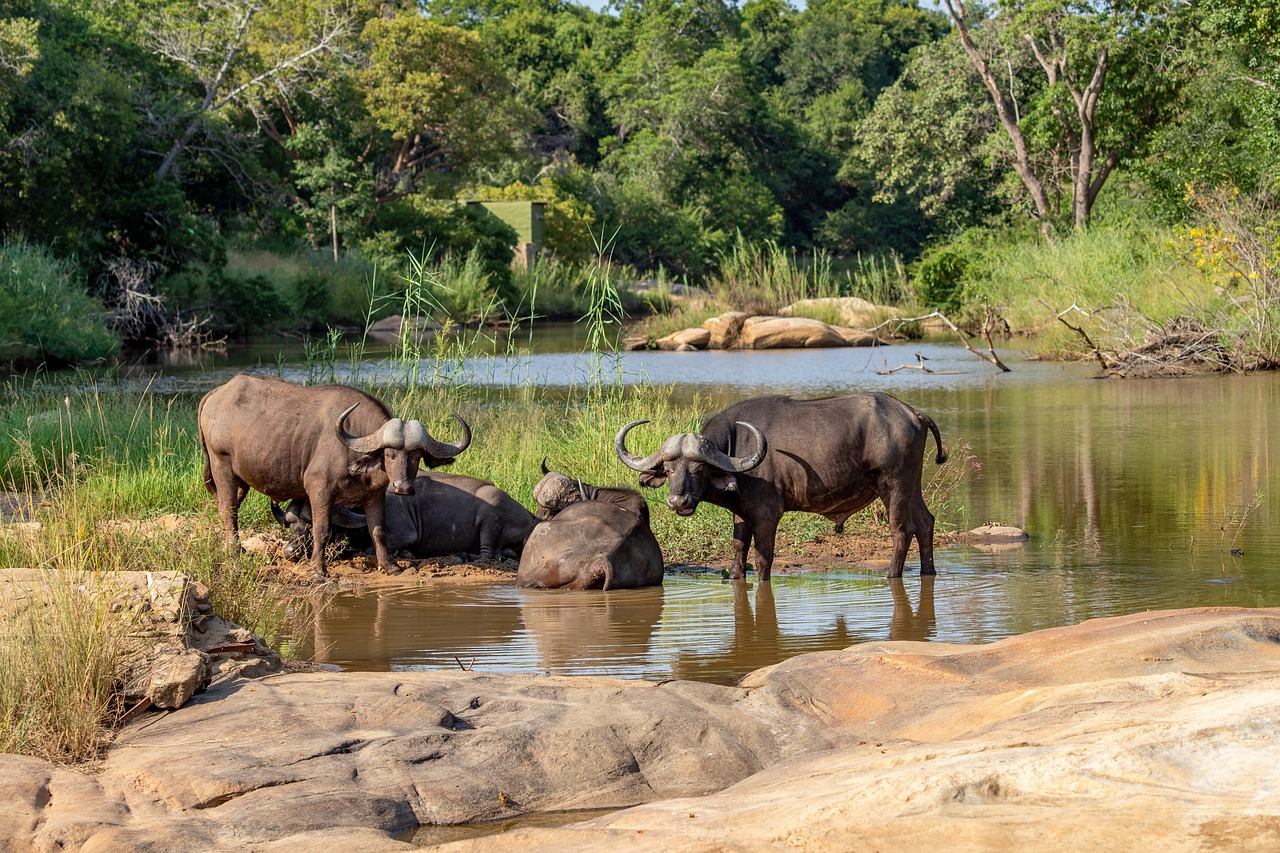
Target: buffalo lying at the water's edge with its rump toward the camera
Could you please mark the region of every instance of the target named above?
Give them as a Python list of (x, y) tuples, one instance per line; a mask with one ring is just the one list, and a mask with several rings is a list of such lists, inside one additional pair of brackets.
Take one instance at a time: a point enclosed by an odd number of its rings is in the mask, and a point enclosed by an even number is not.
[(623, 589), (662, 583), (662, 548), (635, 489), (588, 485), (547, 470), (534, 487), (541, 521), (525, 543), (517, 587)]

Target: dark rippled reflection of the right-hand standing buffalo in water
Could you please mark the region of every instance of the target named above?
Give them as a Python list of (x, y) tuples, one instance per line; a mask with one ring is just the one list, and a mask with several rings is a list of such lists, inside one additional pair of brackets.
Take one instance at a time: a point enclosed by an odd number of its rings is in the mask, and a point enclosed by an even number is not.
[[(883, 634), (851, 633), (844, 613), (837, 613), (832, 629), (817, 638), (813, 634), (783, 637), (778, 629), (773, 583), (755, 584), (754, 608), (746, 580), (730, 583), (733, 585), (733, 631), (728, 648), (713, 648), (707, 652), (682, 651), (672, 665), (676, 678), (732, 684), (748, 672), (772, 666), (795, 654), (841, 649), (884, 639)], [(934, 578), (931, 575), (920, 578), (920, 601), (914, 608), (901, 578), (893, 578), (887, 583), (893, 599), (893, 615), (887, 626), (888, 639), (931, 639), (937, 633), (933, 610)]]

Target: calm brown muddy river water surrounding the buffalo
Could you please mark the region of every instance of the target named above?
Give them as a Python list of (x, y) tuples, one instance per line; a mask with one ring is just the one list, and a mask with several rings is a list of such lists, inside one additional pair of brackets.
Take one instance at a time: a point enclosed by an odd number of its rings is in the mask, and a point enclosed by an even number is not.
[[(901, 581), (850, 565), (769, 584), (668, 574), (660, 589), (612, 593), (509, 584), (349, 592), (329, 598), (298, 643), (349, 669), (731, 684), (792, 654), (870, 640), (978, 643), (1143, 610), (1280, 606), (1280, 377), (1100, 380), (1089, 365), (1002, 356), (1012, 373), (947, 343), (628, 353), (616, 369), (625, 382), (673, 383), (673, 393), (719, 402), (895, 393), (937, 420), (954, 451), (947, 466), (968, 466), (959, 487), (932, 501), (940, 525), (1014, 524), (1030, 533), (1025, 544), (946, 548), (936, 579), (911, 575), (909, 562)], [(520, 364), (467, 369), (477, 382), (525, 370), (554, 384), (572, 382), (575, 356)], [(881, 373), (902, 364), (932, 373)], [(934, 471), (928, 465), (925, 476)], [(726, 553), (728, 535), (726, 525)]]

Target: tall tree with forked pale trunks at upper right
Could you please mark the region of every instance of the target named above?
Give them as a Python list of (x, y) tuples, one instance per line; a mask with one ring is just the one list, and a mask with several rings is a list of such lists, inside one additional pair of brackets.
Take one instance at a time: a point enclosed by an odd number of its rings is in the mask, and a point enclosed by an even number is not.
[[(1011, 145), (1011, 165), (1048, 233), (1070, 200), (1085, 228), (1115, 168), (1144, 150), (1181, 83), (1178, 0), (1014, 0), (983, 15), (942, 0)], [(1028, 91), (1023, 72), (1038, 68)], [(1108, 88), (1110, 79), (1117, 81)]]

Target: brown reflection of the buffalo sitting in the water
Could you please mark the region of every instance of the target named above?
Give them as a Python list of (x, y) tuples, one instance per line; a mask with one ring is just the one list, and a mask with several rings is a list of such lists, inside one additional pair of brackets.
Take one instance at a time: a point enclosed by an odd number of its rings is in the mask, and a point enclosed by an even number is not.
[(526, 589), (520, 615), (548, 672), (643, 661), (662, 616), (662, 587), (643, 589)]

